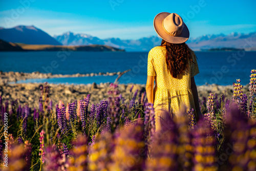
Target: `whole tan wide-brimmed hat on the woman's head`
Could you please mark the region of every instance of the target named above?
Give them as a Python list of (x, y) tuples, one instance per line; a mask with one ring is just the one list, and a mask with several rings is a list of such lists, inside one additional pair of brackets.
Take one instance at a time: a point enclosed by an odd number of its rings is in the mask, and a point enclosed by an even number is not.
[(187, 26), (176, 13), (157, 14), (154, 18), (154, 28), (162, 39), (172, 44), (181, 44), (189, 38)]

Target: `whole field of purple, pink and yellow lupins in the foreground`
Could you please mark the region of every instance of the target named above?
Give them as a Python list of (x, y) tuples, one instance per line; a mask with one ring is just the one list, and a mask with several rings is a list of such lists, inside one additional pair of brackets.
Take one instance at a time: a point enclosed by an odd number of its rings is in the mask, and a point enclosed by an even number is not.
[(0, 96), (1, 169), (255, 170), (256, 70), (250, 77), (249, 97), (238, 79), (232, 99), (210, 93), (200, 101), (203, 120), (194, 109), (177, 119), (166, 112), (161, 132), (146, 93), (132, 88), (124, 99), (115, 83), (108, 99), (92, 105), (90, 94), (52, 104), (47, 83), (36, 107)]

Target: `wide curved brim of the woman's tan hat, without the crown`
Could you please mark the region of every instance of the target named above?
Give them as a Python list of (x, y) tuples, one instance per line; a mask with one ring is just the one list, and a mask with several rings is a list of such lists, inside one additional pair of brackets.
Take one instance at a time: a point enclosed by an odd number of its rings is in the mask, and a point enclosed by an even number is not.
[(166, 16), (168, 16), (170, 13), (168, 12), (161, 12), (157, 14), (154, 18), (154, 28), (157, 34), (164, 39), (165, 41), (168, 41), (172, 44), (182, 44), (183, 42), (187, 41), (189, 38), (189, 31), (187, 26), (184, 24), (182, 32), (179, 36), (172, 36), (166, 33), (163, 29), (162, 22)]

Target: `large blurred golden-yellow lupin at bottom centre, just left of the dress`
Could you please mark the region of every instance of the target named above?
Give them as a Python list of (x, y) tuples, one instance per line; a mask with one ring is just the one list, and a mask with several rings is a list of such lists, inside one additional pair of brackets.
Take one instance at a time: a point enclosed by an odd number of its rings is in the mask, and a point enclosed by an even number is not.
[(109, 170), (143, 170), (146, 158), (143, 132), (143, 121), (140, 119), (116, 133), (118, 136)]

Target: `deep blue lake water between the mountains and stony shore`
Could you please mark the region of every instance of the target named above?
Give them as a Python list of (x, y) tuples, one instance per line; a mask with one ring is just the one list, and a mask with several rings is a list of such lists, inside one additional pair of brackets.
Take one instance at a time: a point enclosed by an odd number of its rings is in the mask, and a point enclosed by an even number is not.
[[(120, 83), (146, 83), (147, 52), (0, 52), (0, 71), (52, 74), (87, 74), (131, 69)], [(256, 52), (196, 52), (200, 73), (196, 83), (229, 85), (240, 78), (249, 83), (251, 69), (256, 69)], [(115, 76), (31, 79), (19, 82), (100, 83), (113, 82)]]

